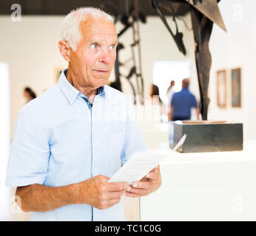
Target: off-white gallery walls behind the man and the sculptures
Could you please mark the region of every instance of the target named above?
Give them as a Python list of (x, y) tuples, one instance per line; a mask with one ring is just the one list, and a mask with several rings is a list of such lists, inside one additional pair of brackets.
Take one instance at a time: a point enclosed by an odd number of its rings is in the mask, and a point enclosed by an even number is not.
[[(220, 2), (220, 11), (228, 33), (217, 26), (212, 31), (210, 50), (212, 52), (212, 70), (209, 85), (209, 119), (226, 119), (244, 122), (244, 136), (246, 139), (256, 139), (254, 100), (255, 100), (255, 72), (252, 66), (255, 60), (256, 32), (253, 27), (255, 16), (249, 14), (250, 1), (226, 0)], [(243, 8), (243, 18), (237, 13), (239, 6)], [(67, 63), (58, 52), (58, 40), (62, 16), (22, 16), (21, 22), (10, 21), (10, 16), (0, 17), (0, 28), (4, 37), (0, 38), (0, 61), (7, 62), (10, 68), (10, 129), (13, 125), (18, 110), (24, 105), (22, 91), (25, 86), (30, 86), (41, 94), (50, 88), (56, 81), (58, 68), (66, 67)], [(189, 15), (184, 18), (188, 27), (191, 27)], [(172, 22), (172, 18), (168, 19)], [(140, 24), (141, 29), (141, 57), (142, 72), (144, 75), (144, 91), (149, 92), (152, 83), (152, 67), (158, 60), (188, 60), (191, 62), (190, 89), (199, 99), (198, 82), (195, 70), (194, 44), (192, 31), (187, 30), (183, 22), (178, 20), (179, 30), (184, 34), (184, 44), (187, 55), (183, 56), (167, 32), (160, 18), (149, 17), (147, 24)], [(173, 28), (173, 25), (172, 25)], [(121, 25), (117, 25), (121, 30)], [(132, 31), (122, 35), (120, 41), (127, 45), (121, 51), (121, 61), (131, 57), (128, 47), (132, 42)], [(230, 69), (241, 68), (242, 80), (242, 107), (231, 107)], [(216, 100), (216, 71), (227, 70), (227, 106), (219, 108)], [(123, 69), (121, 72), (127, 74)], [(114, 80), (114, 74), (110, 80)], [(171, 75), (170, 75), (171, 77)], [(131, 94), (131, 89), (124, 78), (121, 80), (126, 94)]]

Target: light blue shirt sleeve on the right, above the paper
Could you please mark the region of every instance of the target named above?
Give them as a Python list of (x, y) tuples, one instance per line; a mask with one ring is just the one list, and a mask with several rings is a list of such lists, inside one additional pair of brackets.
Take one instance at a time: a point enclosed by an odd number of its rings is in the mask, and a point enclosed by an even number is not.
[(130, 156), (135, 152), (144, 152), (147, 150), (146, 143), (141, 133), (141, 128), (135, 115), (135, 108), (132, 103), (128, 105), (128, 119), (126, 133), (124, 138), (124, 146), (121, 153), (121, 165), (123, 165)]

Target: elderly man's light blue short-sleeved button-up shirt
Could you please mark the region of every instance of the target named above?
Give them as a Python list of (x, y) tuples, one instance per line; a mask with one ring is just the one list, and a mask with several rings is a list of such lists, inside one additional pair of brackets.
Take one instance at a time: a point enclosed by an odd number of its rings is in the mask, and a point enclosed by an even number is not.
[[(18, 112), (7, 186), (64, 186), (93, 176), (111, 177), (136, 151), (146, 150), (129, 98), (110, 86), (93, 105), (64, 73), (53, 87)], [(126, 221), (122, 201), (109, 209), (88, 204), (31, 212), (31, 221)]]

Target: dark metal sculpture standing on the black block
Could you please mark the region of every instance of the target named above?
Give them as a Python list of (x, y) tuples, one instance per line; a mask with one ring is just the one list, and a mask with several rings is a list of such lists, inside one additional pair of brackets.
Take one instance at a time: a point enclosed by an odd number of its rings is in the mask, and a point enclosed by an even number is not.
[[(209, 105), (208, 87), (209, 72), (212, 65), (212, 58), (209, 52), (209, 38), (212, 32), (213, 23), (226, 31), (223, 19), (220, 15), (218, 2), (220, 0), (152, 0), (152, 6), (157, 11), (167, 30), (172, 35), (178, 49), (186, 55), (186, 48), (183, 44), (183, 33), (178, 31), (178, 24), (175, 19), (175, 8), (173, 4), (189, 4), (192, 19), (192, 30), (195, 40), (195, 61), (198, 73), (199, 92), (201, 97), (200, 111), (202, 119), (207, 119), (207, 110)], [(164, 17), (161, 8), (172, 13), (175, 21), (176, 33), (174, 34)]]

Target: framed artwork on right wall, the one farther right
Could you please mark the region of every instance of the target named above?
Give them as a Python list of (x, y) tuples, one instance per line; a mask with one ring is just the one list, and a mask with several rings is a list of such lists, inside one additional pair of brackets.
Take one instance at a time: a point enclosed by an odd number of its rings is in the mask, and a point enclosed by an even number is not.
[(231, 70), (231, 88), (232, 88), (232, 107), (241, 107), (241, 69), (236, 68)]

